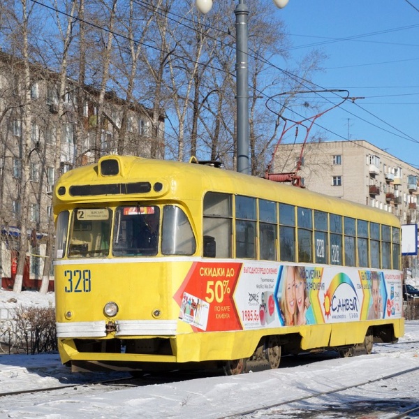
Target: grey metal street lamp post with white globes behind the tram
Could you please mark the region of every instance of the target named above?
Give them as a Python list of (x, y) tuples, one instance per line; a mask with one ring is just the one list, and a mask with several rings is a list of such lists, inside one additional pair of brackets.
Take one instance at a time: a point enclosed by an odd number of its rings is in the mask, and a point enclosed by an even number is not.
[[(278, 8), (288, 0), (273, 0)], [(208, 13), (212, 0), (196, 0), (200, 13)], [(249, 174), (249, 36), (247, 20), (249, 8), (246, 0), (239, 0), (235, 10), (236, 27), (236, 124), (237, 124), (237, 172)]]

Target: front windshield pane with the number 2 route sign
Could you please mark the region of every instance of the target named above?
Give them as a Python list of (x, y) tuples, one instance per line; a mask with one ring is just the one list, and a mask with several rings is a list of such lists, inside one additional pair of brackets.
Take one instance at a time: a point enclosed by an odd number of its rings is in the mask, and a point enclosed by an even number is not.
[(112, 216), (108, 208), (73, 211), (68, 247), (69, 258), (108, 256)]

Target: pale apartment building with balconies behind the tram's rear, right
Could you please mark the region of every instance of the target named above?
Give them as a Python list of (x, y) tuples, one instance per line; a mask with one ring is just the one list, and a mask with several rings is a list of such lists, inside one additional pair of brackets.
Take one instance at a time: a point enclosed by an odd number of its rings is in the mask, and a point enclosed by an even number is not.
[[(279, 145), (272, 172), (293, 172), (302, 144)], [(418, 223), (419, 170), (365, 140), (310, 142), (297, 173), (316, 192), (370, 205)]]

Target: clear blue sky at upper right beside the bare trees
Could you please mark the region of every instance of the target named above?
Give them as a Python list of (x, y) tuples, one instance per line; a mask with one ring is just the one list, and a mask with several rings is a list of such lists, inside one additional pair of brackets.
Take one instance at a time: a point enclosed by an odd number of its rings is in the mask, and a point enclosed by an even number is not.
[(328, 58), (313, 81), (362, 97), (317, 119), (326, 139), (367, 140), (419, 167), (419, 0), (289, 0), (272, 10), (293, 43), (281, 68), (320, 48)]

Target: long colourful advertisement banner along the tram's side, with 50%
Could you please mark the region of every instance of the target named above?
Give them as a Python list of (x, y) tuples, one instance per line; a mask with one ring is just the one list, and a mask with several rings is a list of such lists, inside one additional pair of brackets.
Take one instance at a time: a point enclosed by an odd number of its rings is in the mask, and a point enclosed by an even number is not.
[(402, 316), (399, 274), (358, 268), (196, 262), (174, 297), (196, 332)]

